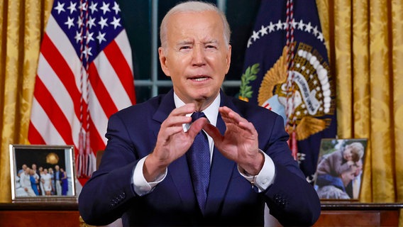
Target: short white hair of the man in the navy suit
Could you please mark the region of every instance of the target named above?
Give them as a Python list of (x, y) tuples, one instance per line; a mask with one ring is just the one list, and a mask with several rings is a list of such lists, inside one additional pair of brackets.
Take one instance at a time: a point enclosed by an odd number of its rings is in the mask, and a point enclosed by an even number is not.
[(160, 40), (162, 48), (167, 47), (167, 21), (175, 13), (184, 13), (184, 12), (202, 12), (202, 11), (215, 11), (219, 13), (221, 17), (221, 21), (223, 22), (223, 35), (224, 41), (226, 43), (226, 47), (228, 48), (229, 41), (231, 38), (231, 29), (229, 28), (228, 21), (226, 19), (225, 14), (223, 11), (217, 8), (214, 4), (210, 4), (203, 1), (185, 1), (180, 4), (174, 6), (167, 14), (164, 16), (161, 22), (160, 27)]

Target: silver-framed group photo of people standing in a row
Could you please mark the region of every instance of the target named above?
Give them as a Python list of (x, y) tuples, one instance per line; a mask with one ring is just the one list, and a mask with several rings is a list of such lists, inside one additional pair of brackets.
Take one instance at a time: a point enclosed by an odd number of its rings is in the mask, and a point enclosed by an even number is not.
[(72, 145), (15, 145), (10, 148), (11, 199), (77, 200)]

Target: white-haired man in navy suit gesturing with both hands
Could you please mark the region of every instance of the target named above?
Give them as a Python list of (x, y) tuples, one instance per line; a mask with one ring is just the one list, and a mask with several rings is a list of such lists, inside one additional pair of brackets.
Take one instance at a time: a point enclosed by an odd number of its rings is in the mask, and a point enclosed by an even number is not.
[(292, 159), (282, 118), (220, 89), (231, 62), (223, 13), (188, 1), (160, 29), (173, 89), (111, 116), (101, 165), (79, 196), (84, 221), (263, 226), (267, 204), (284, 225), (314, 224), (319, 198)]

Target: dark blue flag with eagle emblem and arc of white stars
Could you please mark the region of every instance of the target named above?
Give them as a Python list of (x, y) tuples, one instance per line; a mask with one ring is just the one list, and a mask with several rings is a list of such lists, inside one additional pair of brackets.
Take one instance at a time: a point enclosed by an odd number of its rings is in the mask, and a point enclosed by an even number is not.
[(334, 79), (315, 0), (263, 0), (245, 52), (239, 98), (284, 118), (309, 182), (321, 138), (336, 137)]

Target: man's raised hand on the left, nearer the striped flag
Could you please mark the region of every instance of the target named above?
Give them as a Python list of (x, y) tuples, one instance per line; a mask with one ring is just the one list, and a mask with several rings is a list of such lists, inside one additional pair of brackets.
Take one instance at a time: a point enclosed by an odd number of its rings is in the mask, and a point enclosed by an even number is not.
[(143, 166), (143, 174), (148, 182), (154, 181), (158, 175), (165, 172), (170, 163), (184, 155), (192, 145), (197, 133), (207, 123), (207, 118), (199, 118), (185, 133), (182, 125), (192, 122), (192, 117), (186, 116), (186, 114), (194, 111), (196, 111), (194, 104), (186, 104), (174, 109), (162, 122), (153, 153), (148, 155)]

